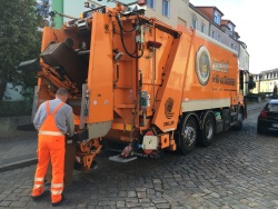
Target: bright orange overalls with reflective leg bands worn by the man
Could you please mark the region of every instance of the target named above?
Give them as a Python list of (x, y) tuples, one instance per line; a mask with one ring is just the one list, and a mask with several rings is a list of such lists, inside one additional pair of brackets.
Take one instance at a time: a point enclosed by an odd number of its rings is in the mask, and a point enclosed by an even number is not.
[(63, 106), (61, 102), (50, 113), (49, 101), (47, 101), (47, 118), (39, 129), (38, 140), (38, 165), (34, 175), (32, 196), (38, 197), (44, 192), (44, 176), (48, 169), (49, 159), (52, 163), (51, 201), (61, 201), (63, 190), (64, 168), (64, 135), (57, 128), (54, 115)]

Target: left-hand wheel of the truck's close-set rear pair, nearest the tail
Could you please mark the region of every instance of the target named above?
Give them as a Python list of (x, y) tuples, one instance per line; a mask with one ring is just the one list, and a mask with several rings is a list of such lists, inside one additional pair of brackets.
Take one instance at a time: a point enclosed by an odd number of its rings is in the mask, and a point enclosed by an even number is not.
[(183, 155), (187, 155), (193, 150), (197, 142), (197, 126), (192, 117), (183, 119), (180, 132), (181, 132), (180, 149)]

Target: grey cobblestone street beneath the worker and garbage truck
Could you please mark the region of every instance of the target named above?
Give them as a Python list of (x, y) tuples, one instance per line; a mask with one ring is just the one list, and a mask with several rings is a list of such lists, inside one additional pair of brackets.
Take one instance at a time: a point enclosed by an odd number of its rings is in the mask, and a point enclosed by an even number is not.
[[(117, 163), (102, 152), (98, 169), (75, 172), (62, 207), (278, 209), (278, 137), (257, 135), (260, 106), (249, 110), (241, 131), (220, 133), (187, 156)], [(34, 166), (0, 173), (0, 208), (51, 208), (49, 197), (30, 198), (33, 173)]]

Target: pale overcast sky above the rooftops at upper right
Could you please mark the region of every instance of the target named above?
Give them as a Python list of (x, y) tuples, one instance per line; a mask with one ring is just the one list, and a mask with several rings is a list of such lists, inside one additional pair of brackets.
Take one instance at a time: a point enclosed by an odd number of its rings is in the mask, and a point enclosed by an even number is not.
[(190, 0), (193, 6), (215, 6), (236, 24), (240, 41), (247, 44), (249, 72), (278, 68), (277, 0)]

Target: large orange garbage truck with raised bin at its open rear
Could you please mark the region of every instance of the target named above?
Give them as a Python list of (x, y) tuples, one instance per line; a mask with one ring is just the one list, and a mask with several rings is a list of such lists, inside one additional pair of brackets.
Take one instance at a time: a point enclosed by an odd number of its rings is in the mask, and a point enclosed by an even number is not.
[(111, 160), (186, 155), (208, 147), (216, 133), (241, 129), (247, 117), (237, 51), (193, 29), (173, 29), (143, 16), (139, 1), (89, 8), (61, 29), (43, 28), (36, 71), (38, 106), (70, 92), (75, 163), (91, 168), (103, 145), (121, 145)]

